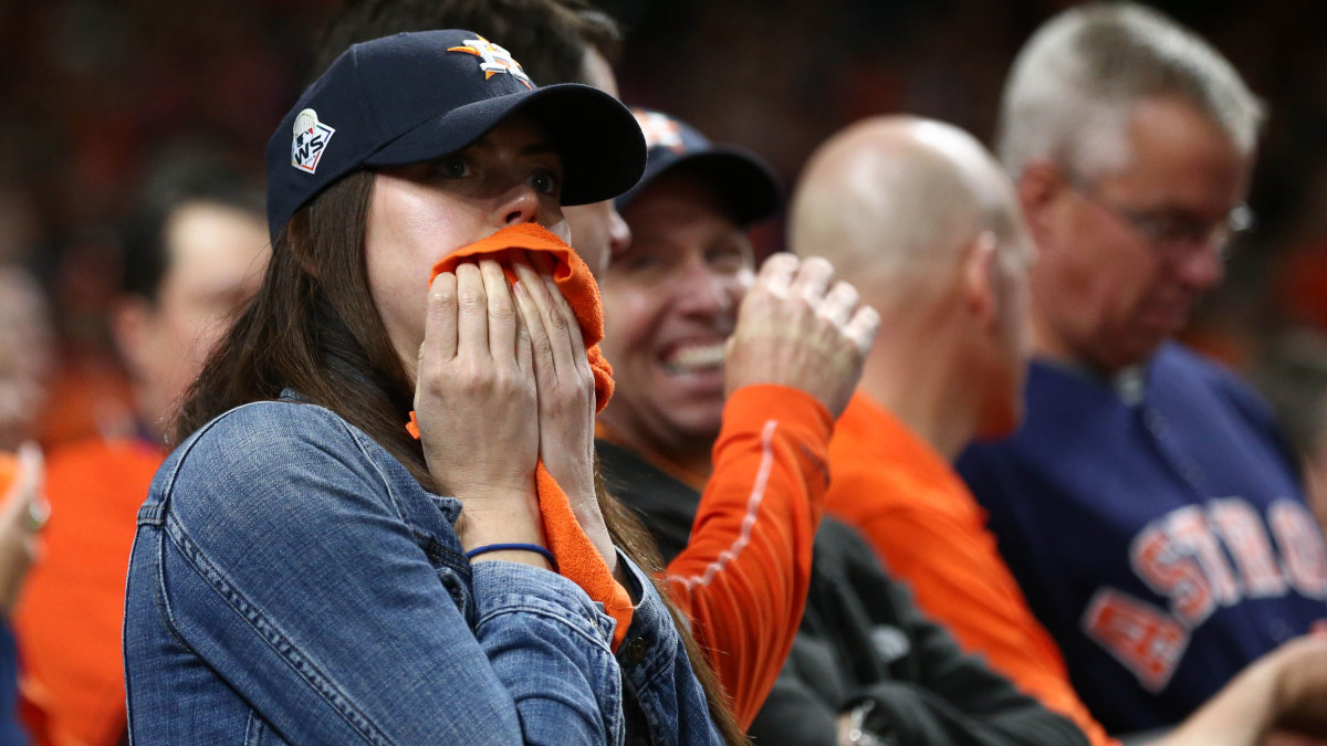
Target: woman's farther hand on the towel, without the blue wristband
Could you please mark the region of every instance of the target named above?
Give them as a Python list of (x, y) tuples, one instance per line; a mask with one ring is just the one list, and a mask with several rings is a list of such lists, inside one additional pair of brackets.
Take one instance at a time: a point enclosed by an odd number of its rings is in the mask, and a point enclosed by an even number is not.
[(594, 373), (585, 356), (580, 323), (552, 276), (547, 256), (537, 269), (516, 263), (516, 304), (529, 329), (539, 389), (539, 455), (567, 492), (576, 520), (610, 571), (617, 552), (594, 495)]

